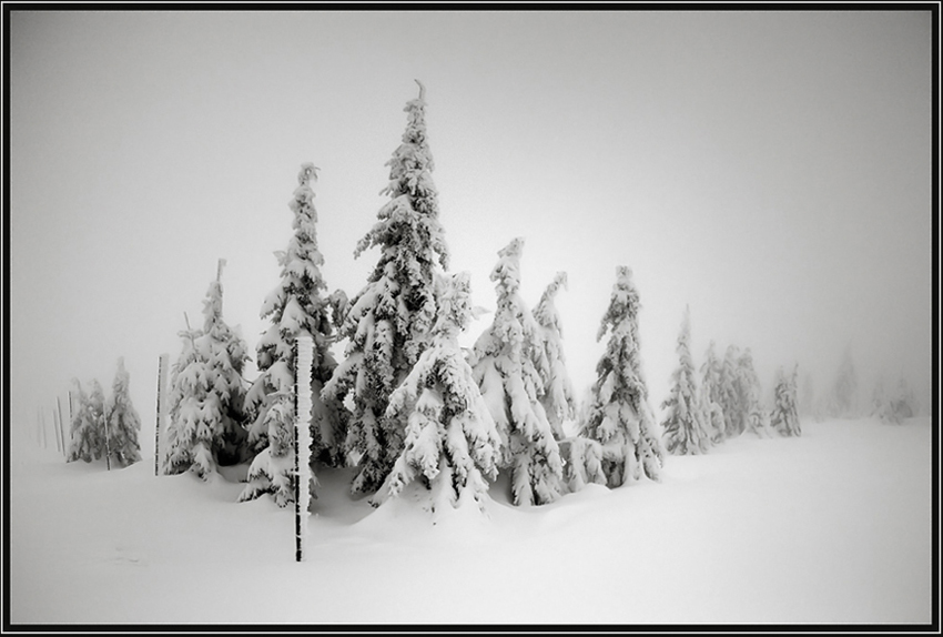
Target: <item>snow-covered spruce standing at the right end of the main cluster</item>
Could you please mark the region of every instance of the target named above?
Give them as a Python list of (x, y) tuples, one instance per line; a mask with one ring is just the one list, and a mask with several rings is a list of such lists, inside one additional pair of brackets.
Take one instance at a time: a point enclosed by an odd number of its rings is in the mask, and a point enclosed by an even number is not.
[(581, 431), (604, 447), (602, 468), (609, 487), (637, 481), (642, 471), (658, 481), (665, 462), (641, 373), (639, 307), (631, 270), (620, 265), (596, 336), (600, 341), (608, 333), (609, 342), (596, 365), (592, 404)]

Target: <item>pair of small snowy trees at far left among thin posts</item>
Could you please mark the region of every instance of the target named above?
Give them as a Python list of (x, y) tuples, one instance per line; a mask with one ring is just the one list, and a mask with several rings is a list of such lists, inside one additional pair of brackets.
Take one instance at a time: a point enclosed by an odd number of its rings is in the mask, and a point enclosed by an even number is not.
[(105, 397), (97, 378), (92, 380), (90, 392), (85, 392), (78, 380), (73, 384), (74, 407), (65, 462), (90, 463), (104, 456), (110, 467), (112, 461), (119, 466), (140, 461), (141, 418), (131, 403), (130, 374), (124, 368), (124, 358), (118, 360), (110, 396)]

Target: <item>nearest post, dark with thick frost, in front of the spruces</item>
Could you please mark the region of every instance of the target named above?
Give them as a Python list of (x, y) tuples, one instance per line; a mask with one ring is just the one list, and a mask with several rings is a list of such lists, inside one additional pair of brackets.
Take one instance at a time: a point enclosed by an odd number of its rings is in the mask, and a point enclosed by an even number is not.
[(311, 504), (311, 366), (314, 338), (295, 340), (295, 562), (304, 562)]

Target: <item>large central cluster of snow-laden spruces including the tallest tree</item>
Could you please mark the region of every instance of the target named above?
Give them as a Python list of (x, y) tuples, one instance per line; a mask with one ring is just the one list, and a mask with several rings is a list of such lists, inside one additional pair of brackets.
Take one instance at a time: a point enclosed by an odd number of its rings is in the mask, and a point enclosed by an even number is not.
[[(531, 311), (520, 296), (524, 240), (499, 251), (491, 271), (497, 309), (470, 351), (458, 345), (477, 309), (469, 276), (448, 273), (448, 246), (425, 124), (425, 97), (407, 102), (402, 143), (387, 162), (389, 200), (354, 252), (378, 249), (364, 287), (348, 300), (326, 295), (311, 182), (302, 165), (290, 202), (294, 235), (277, 253), (278, 286), (261, 315), (270, 328), (256, 346), (258, 377), (249, 383), (244, 341), (222, 317), (220, 275), (204, 302), (203, 327), (181, 332), (171, 378), (165, 473), (207, 479), (220, 465), (249, 463), (240, 499), (294, 497), (293, 343), (315, 343), (311, 370), (312, 484), (317, 465), (355, 467), (352, 492), (379, 505), (407, 488), (428, 507), (484, 502), (500, 472), (515, 504), (539, 505), (594, 482), (619, 486), (642, 473), (658, 479), (663, 449), (640, 370), (638, 292), (617, 270), (599, 330), (608, 334), (592, 401), (579, 431), (566, 372), (555, 297), (558, 273)], [(331, 346), (346, 342), (335, 361)], [(306, 414), (305, 417), (308, 417)], [(566, 467), (566, 471), (565, 471)]]

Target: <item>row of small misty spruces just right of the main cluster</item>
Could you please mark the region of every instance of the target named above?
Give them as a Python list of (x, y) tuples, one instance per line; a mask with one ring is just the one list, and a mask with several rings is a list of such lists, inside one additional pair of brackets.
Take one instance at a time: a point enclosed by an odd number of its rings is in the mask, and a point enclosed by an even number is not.
[(801, 434), (795, 397), (798, 366), (791, 374), (782, 367), (778, 371), (774, 404), (768, 412), (749, 347), (741, 353), (737, 345), (729, 345), (721, 361), (711, 341), (698, 386), (690, 330), (690, 313), (686, 309), (677, 345), (679, 364), (671, 376), (669, 395), (661, 404), (663, 441), (669, 453), (707, 453), (712, 445), (743, 433), (759, 437), (770, 437), (773, 433)]

